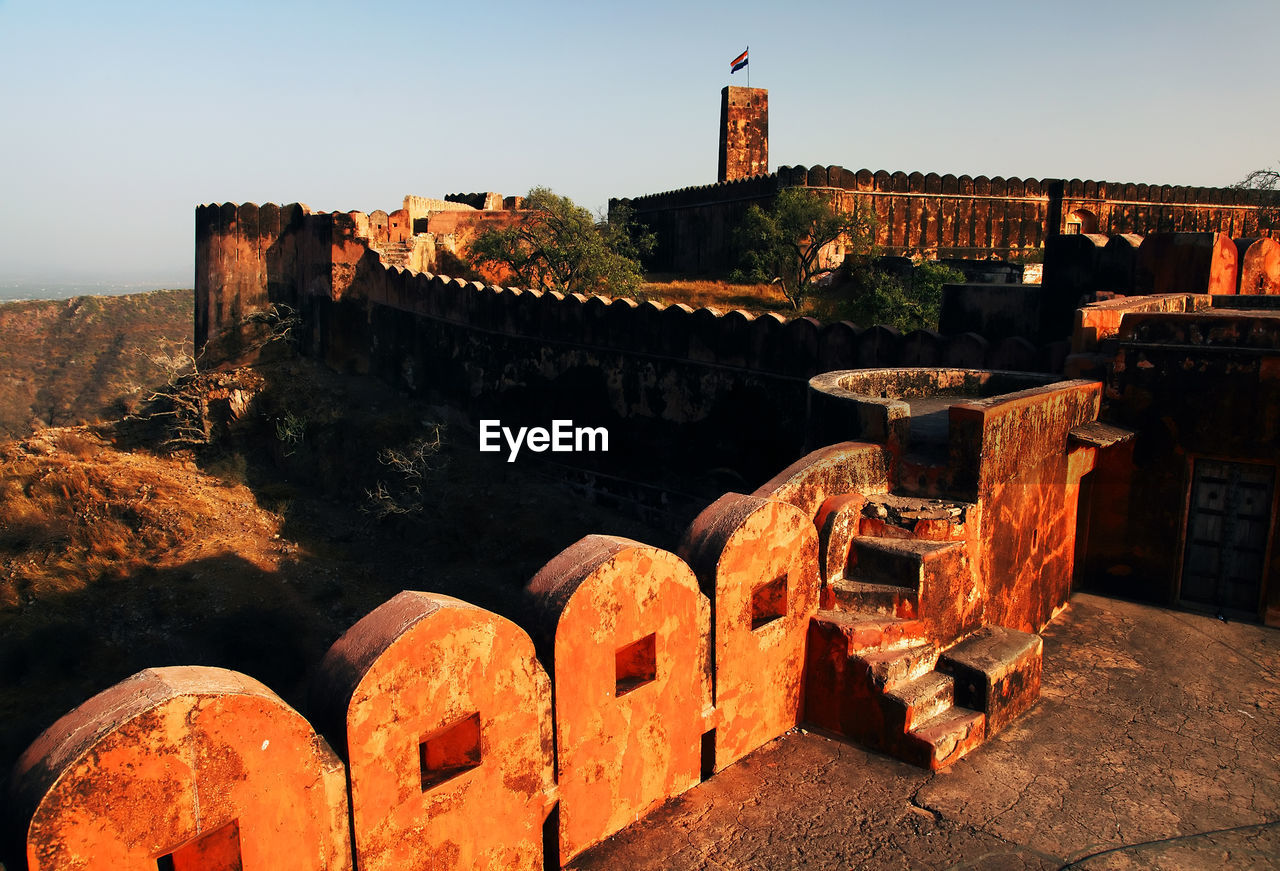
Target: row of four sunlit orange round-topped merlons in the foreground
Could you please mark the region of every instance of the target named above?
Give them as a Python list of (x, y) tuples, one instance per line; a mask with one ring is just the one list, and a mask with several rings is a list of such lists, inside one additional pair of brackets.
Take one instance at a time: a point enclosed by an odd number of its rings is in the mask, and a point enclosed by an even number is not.
[(691, 533), (701, 584), (588, 535), (529, 582), (521, 625), (399, 593), (325, 656), (319, 731), (223, 669), (104, 690), (13, 772), (29, 867), (559, 867), (800, 721), (814, 529), (733, 498)]

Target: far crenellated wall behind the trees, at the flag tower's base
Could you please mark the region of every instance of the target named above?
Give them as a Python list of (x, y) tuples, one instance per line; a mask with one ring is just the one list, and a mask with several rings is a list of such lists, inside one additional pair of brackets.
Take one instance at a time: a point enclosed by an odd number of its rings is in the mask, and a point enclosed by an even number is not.
[(714, 274), (732, 265), (732, 228), (746, 209), (767, 206), (787, 187), (827, 191), (845, 210), (870, 209), (887, 254), (942, 259), (1007, 259), (1069, 233), (1258, 236), (1258, 205), (1280, 201), (1233, 188), (780, 167), (771, 175), (614, 202), (630, 204), (657, 233), (654, 269)]

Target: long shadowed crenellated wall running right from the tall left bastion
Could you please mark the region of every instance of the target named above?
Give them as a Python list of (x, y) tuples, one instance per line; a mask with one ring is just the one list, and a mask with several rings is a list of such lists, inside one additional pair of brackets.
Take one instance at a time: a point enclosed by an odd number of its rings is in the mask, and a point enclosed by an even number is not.
[[(264, 211), (291, 219), (264, 225)], [(243, 348), (251, 337), (237, 320), (287, 302), (302, 315), (303, 351), (330, 366), (376, 374), (474, 420), (608, 427), (608, 470), (632, 480), (727, 469), (759, 483), (800, 452), (805, 386), (819, 371), (1050, 371), (1066, 350), (466, 283), (387, 266), (360, 213), (200, 206), (196, 232), (197, 310), (212, 313), (197, 322), (197, 342)], [(567, 456), (604, 468), (599, 456)]]

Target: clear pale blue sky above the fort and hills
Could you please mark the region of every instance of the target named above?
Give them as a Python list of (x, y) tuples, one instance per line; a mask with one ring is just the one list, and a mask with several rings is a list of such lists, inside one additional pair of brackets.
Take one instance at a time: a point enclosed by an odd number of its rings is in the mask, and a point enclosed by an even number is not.
[(0, 0), (0, 281), (189, 287), (201, 202), (392, 210), (771, 168), (1220, 186), (1280, 163), (1277, 0)]

